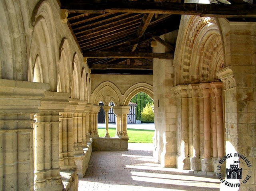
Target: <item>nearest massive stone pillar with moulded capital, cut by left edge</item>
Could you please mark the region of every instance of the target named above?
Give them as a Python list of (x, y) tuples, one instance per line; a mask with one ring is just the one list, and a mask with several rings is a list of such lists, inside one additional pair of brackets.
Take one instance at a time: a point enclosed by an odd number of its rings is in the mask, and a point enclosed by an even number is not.
[(0, 190), (33, 190), (33, 122), (49, 85), (0, 79)]

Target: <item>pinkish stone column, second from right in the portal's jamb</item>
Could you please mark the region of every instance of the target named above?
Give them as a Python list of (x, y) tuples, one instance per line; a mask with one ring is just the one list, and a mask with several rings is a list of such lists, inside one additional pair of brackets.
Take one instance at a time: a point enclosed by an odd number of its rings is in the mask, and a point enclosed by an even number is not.
[(208, 83), (201, 84), (204, 96), (204, 159), (202, 159), (202, 171), (213, 171), (211, 149), (211, 124), (210, 124), (210, 95), (211, 89)]

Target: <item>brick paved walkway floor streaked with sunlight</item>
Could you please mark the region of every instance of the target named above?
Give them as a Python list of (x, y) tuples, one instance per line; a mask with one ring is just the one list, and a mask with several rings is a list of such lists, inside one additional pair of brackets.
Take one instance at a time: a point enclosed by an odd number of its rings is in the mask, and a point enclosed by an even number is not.
[(215, 191), (219, 184), (218, 178), (160, 167), (152, 144), (129, 143), (128, 151), (92, 152), (78, 191)]

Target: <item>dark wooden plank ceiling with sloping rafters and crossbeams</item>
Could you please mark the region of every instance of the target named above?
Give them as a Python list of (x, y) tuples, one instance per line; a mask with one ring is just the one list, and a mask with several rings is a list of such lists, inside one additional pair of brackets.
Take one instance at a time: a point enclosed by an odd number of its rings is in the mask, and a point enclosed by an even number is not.
[[(111, 4), (107, 4), (110, 6), (108, 10), (102, 7), (106, 6), (103, 2), (108, 1), (61, 0), (60, 2), (62, 8), (68, 10), (68, 25), (84, 57), (88, 57), (87, 62), (92, 73), (152, 74), (153, 58), (173, 58), (174, 45), (162, 41), (159, 36), (178, 30), (180, 14), (171, 14), (170, 11), (163, 10), (140, 9), (136, 11), (132, 8), (116, 8), (124, 2), (128, 2), (128, 5), (131, 2), (134, 3), (134, 1), (127, 0), (110, 0)], [(164, 2), (166, 3), (166, 0)], [(168, 2), (173, 4), (176, 0)], [(154, 2), (144, 1), (144, 3), (146, 6)], [(138, 6), (141, 6), (141, 3)], [(153, 5), (153, 7), (157, 6)], [(229, 14), (234, 14), (233, 12)], [(194, 13), (202, 15), (199, 11), (194, 11)], [(227, 14), (224, 13), (224, 16)], [(152, 39), (165, 45), (169, 53), (165, 56), (152, 53), (150, 46)]]

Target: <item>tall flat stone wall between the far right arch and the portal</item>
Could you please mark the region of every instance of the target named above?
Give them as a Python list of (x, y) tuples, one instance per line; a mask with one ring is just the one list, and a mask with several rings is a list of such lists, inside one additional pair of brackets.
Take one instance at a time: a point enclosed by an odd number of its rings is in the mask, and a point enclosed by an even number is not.
[[(174, 33), (174, 39), (176, 37)], [(167, 37), (171, 37), (168, 34)], [(161, 36), (164, 39), (165, 36)], [(154, 52), (166, 52), (157, 43)], [(154, 157), (162, 166), (176, 167), (176, 100), (171, 87), (174, 85), (172, 59), (153, 59), (154, 79)], [(159, 106), (158, 106), (159, 103)]]

